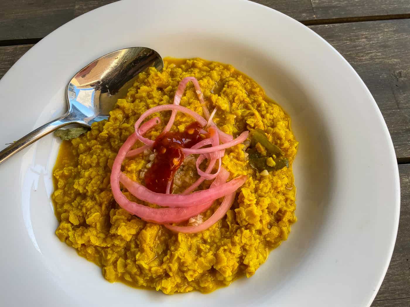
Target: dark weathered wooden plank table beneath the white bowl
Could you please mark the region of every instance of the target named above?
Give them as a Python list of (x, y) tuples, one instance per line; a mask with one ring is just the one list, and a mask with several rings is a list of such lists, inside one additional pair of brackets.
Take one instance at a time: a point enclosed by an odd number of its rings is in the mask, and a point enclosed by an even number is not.
[[(51, 31), (111, 2), (115, 0), (2, 0), (0, 78)], [(396, 150), (401, 215), (392, 261), (372, 306), (410, 306), (410, 0), (255, 2), (299, 20), (326, 39), (376, 99)]]

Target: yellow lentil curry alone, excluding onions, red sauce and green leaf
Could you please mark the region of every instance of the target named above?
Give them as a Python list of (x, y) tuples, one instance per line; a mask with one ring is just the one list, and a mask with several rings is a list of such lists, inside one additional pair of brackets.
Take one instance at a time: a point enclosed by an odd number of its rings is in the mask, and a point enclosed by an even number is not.
[[(81, 256), (101, 266), (109, 282), (124, 281), (167, 294), (206, 293), (240, 276), (252, 276), (269, 250), (287, 239), (296, 221), (292, 162), (298, 143), (282, 108), (232, 66), (202, 59), (168, 58), (164, 62), (162, 72), (150, 68), (139, 75), (127, 97), (118, 100), (108, 121), (95, 123), (79, 138), (64, 141), (54, 169), (52, 199), (60, 222), (56, 234)], [(110, 188), (110, 167), (123, 142), (134, 132), (134, 123), (149, 108), (171, 104), (178, 83), (187, 76), (199, 80), (209, 108), (217, 107), (214, 122), (223, 132), (236, 137), (248, 129), (261, 129), (289, 161), (289, 168), (259, 172), (249, 163), (247, 144), (226, 149), (222, 165), (230, 178), (247, 175), (248, 180), (225, 217), (194, 234), (173, 233), (129, 214), (115, 202)], [(181, 105), (202, 113), (192, 84), (187, 86)], [(162, 123), (170, 113), (161, 113)], [(182, 132), (191, 122), (178, 113), (173, 130)], [(154, 139), (162, 128), (158, 126), (146, 136)], [(123, 172), (144, 183), (151, 156), (147, 151), (125, 160)], [(174, 192), (198, 178), (194, 170), (194, 160), (185, 161), (175, 176)], [(205, 181), (200, 189), (209, 184)], [(203, 219), (220, 203), (217, 200), (204, 212)]]

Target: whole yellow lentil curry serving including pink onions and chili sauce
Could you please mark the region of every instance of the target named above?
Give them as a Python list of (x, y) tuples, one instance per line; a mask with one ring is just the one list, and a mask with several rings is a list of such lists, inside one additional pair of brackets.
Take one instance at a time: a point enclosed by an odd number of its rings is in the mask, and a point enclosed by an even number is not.
[(251, 277), (295, 216), (290, 118), (231, 65), (164, 59), (62, 143), (62, 242), (109, 282), (203, 293)]

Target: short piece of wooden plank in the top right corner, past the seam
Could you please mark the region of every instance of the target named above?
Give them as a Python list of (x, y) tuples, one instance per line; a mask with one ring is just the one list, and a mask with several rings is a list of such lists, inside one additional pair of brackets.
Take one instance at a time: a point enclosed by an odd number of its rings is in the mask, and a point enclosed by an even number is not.
[(318, 19), (410, 14), (409, 0), (312, 0)]

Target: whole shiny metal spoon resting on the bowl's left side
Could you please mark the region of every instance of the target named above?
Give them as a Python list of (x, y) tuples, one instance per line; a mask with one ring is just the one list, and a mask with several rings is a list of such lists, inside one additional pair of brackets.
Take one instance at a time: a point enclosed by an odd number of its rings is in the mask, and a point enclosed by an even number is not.
[(63, 126), (80, 124), (91, 127), (93, 122), (108, 119), (117, 99), (125, 97), (137, 75), (150, 66), (162, 70), (164, 62), (158, 52), (146, 47), (117, 50), (91, 62), (68, 82), (68, 112), (0, 151), (0, 164)]

